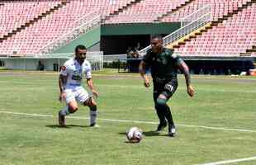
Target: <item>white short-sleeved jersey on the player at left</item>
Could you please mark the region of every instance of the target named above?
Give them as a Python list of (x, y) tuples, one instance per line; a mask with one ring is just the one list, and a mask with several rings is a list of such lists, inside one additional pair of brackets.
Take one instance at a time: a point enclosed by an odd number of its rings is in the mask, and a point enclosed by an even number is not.
[(85, 78), (92, 78), (92, 68), (88, 60), (84, 59), (83, 64), (80, 65), (78, 61), (73, 58), (64, 63), (59, 74), (68, 76), (66, 87), (77, 87), (82, 83), (83, 74)]

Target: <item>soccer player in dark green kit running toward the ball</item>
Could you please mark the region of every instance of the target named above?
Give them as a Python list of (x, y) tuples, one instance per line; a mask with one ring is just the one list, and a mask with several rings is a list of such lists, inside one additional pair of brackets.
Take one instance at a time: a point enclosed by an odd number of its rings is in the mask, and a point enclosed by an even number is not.
[(173, 50), (164, 48), (162, 36), (153, 36), (150, 43), (151, 49), (147, 51), (140, 62), (140, 75), (144, 80), (145, 87), (149, 87), (149, 78), (145, 71), (146, 68), (151, 69), (154, 84), (154, 108), (159, 116), (157, 131), (164, 130), (168, 124), (168, 135), (173, 137), (176, 134), (176, 128), (167, 101), (178, 87), (178, 69), (183, 71), (186, 78), (187, 94), (193, 97), (195, 90), (191, 85), (187, 64), (178, 55), (173, 54)]

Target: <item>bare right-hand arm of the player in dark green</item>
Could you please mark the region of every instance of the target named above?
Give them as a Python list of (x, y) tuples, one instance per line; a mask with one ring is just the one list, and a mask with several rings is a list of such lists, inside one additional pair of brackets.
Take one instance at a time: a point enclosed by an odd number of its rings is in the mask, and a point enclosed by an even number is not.
[(185, 79), (186, 79), (186, 85), (187, 85), (187, 94), (190, 97), (193, 97), (195, 94), (195, 90), (191, 85), (191, 77), (190, 77), (190, 73), (189, 73), (189, 68), (187, 67), (187, 64), (185, 62), (182, 62), (179, 65), (179, 68), (183, 71)]

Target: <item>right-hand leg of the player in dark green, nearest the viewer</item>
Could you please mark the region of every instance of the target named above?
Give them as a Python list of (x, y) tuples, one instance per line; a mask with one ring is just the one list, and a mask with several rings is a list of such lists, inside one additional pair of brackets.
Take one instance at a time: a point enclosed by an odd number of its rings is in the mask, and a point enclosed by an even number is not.
[(176, 133), (175, 125), (173, 122), (173, 115), (171, 113), (170, 107), (167, 104), (167, 101), (170, 97), (173, 96), (173, 93), (176, 91), (178, 87), (178, 82), (173, 80), (164, 85), (164, 92), (159, 94), (157, 98), (157, 105), (159, 109), (163, 111), (164, 117), (168, 120), (168, 134), (173, 136)]

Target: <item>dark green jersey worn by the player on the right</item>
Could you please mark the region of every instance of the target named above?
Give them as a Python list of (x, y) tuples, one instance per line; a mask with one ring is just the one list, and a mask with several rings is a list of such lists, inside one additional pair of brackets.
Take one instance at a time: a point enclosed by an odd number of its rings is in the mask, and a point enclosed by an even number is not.
[(162, 53), (154, 54), (152, 49), (147, 51), (142, 59), (147, 68), (151, 68), (151, 76), (154, 81), (170, 80), (177, 78), (178, 65), (183, 62), (178, 55), (173, 54), (173, 50), (164, 48)]

